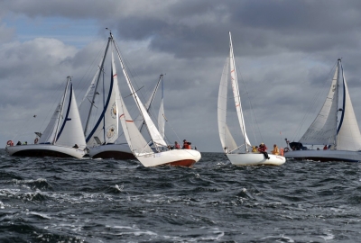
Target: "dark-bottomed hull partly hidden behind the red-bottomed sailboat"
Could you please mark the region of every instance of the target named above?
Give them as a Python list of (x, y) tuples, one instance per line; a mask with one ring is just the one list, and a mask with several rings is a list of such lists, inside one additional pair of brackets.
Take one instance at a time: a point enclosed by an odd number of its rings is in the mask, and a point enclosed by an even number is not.
[(106, 144), (90, 148), (90, 157), (94, 158), (114, 158), (114, 159), (134, 159), (134, 155), (128, 144)]

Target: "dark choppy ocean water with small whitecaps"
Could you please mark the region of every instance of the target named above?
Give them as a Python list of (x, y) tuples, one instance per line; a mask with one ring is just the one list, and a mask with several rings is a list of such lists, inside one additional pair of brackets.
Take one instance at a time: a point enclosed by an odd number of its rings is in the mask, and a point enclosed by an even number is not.
[(0, 242), (361, 241), (359, 163), (0, 156)]

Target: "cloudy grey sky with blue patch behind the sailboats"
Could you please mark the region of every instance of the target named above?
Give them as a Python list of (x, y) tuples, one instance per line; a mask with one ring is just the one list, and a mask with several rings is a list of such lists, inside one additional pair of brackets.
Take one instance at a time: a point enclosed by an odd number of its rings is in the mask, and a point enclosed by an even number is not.
[[(45, 129), (67, 76), (80, 102), (106, 28), (143, 90), (165, 74), (166, 134), (201, 152), (222, 151), (217, 107), (228, 31), (251, 143), (272, 148), (300, 139), (326, 98), (338, 58), (361, 121), (360, 1), (0, 0), (4, 148)], [(231, 131), (242, 143), (229, 101)]]

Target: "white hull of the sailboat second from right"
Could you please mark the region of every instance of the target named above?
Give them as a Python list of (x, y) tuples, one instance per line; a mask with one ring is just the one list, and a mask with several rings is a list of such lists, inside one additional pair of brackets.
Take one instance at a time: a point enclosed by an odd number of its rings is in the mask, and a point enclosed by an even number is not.
[(235, 166), (281, 166), (286, 162), (286, 158), (268, 154), (270, 159), (266, 159), (261, 153), (246, 154), (226, 154), (231, 163)]

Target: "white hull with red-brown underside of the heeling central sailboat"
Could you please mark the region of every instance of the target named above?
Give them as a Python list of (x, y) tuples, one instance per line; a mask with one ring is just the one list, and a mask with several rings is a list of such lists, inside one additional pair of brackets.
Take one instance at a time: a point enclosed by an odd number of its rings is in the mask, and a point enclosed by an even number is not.
[(161, 153), (137, 156), (143, 166), (193, 166), (200, 159), (200, 153), (193, 149), (172, 149)]

